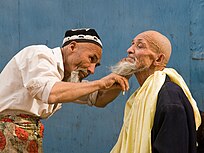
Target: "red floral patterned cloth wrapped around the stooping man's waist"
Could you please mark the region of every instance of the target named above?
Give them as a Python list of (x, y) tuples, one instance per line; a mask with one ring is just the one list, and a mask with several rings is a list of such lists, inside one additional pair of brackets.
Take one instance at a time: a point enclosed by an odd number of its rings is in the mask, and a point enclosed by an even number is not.
[(42, 153), (44, 126), (27, 114), (0, 115), (1, 153)]

